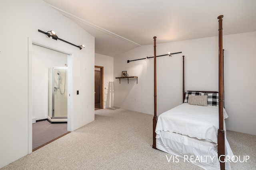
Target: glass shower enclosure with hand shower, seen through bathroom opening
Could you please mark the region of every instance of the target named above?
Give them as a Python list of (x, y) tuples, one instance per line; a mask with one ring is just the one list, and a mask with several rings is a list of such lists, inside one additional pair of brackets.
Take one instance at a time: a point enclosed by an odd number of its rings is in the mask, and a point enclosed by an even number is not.
[(67, 122), (68, 67), (48, 68), (48, 116), (51, 123)]

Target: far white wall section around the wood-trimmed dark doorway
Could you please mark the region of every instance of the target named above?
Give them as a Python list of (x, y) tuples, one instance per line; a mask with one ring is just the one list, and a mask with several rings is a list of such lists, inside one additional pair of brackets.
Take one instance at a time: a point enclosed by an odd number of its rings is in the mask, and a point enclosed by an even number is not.
[(113, 72), (114, 72), (114, 58), (106, 55), (95, 53), (95, 65), (104, 67), (103, 75), (103, 108), (112, 107), (114, 105), (113, 92)]

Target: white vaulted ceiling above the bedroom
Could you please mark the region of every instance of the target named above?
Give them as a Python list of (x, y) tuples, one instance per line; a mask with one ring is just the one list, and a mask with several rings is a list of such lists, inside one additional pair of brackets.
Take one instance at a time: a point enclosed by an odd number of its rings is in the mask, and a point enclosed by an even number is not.
[(256, 31), (256, 0), (44, 0), (115, 57), (142, 45)]

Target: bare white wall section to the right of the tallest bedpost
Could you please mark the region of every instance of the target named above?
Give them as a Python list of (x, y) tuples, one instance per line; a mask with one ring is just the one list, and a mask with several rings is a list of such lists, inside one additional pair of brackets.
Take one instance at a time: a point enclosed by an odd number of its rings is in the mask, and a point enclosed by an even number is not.
[(223, 47), (226, 125), (256, 135), (256, 32), (224, 36)]

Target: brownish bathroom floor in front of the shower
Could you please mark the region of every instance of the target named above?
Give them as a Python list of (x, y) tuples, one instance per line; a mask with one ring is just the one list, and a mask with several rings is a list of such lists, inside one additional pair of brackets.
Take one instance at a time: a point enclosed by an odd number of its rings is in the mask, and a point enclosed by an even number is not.
[(47, 120), (33, 123), (32, 151), (67, 133), (67, 123), (50, 123)]

